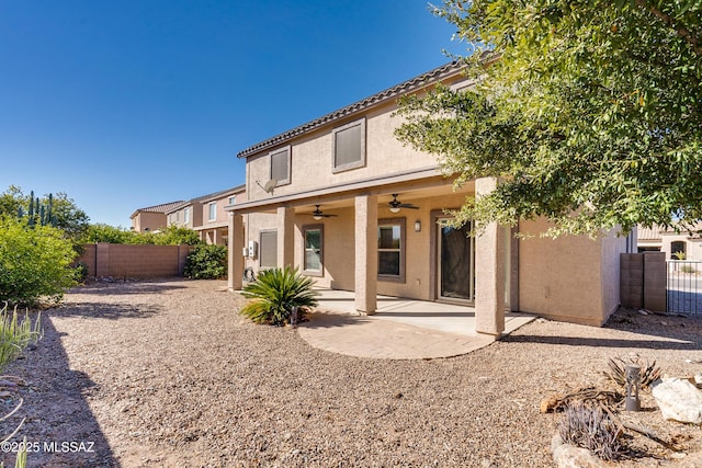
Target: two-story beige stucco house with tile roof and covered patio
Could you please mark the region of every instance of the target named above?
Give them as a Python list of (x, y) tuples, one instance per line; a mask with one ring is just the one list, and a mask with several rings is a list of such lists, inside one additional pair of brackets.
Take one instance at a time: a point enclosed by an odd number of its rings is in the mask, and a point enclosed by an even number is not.
[(320, 287), (354, 292), (365, 313), (381, 294), (473, 306), (476, 331), (491, 335), (506, 309), (602, 324), (620, 304), (620, 253), (633, 238), (513, 236), (539, 233), (544, 220), (476, 238), (442, 225), (496, 181), (456, 189), (435, 156), (395, 138), (397, 99), (439, 82), (469, 84), (450, 64), (240, 151), (247, 201), (227, 207), (229, 287), (241, 287), (245, 267), (293, 265)]

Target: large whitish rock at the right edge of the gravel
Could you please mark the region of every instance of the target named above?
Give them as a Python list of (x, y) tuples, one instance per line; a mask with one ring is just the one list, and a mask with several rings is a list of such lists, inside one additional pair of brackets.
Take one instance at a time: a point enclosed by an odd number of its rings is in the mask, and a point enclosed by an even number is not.
[(656, 380), (653, 396), (665, 420), (702, 424), (702, 392), (680, 378)]

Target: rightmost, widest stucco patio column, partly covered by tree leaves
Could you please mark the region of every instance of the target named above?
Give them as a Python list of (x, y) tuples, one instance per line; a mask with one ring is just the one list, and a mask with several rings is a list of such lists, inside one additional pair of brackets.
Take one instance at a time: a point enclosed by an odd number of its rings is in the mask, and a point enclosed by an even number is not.
[[(475, 196), (491, 192), (497, 179), (475, 181)], [(478, 226), (475, 239), (475, 330), (499, 336), (505, 331), (505, 229), (497, 222)]]

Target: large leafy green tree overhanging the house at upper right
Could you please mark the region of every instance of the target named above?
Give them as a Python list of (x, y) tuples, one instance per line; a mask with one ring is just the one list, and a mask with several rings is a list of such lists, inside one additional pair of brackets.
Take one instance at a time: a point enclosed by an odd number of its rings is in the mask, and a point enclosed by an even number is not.
[(467, 91), (401, 101), (396, 135), (457, 183), (499, 178), (458, 220), (551, 235), (702, 219), (702, 1), (446, 0)]

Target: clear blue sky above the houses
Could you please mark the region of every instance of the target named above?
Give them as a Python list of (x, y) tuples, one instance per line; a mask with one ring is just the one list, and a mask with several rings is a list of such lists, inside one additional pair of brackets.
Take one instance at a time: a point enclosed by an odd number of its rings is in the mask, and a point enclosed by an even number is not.
[(238, 151), (449, 61), (424, 0), (0, 0), (0, 192), (91, 222), (244, 183)]

